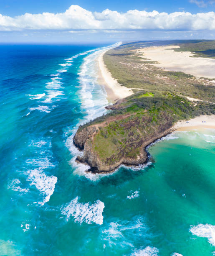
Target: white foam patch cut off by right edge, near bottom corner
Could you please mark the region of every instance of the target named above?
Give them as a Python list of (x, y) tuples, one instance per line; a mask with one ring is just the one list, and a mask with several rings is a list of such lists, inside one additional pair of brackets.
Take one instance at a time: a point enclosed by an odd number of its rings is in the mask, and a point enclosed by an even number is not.
[(207, 238), (208, 242), (215, 246), (215, 225), (198, 224), (190, 226), (193, 235)]

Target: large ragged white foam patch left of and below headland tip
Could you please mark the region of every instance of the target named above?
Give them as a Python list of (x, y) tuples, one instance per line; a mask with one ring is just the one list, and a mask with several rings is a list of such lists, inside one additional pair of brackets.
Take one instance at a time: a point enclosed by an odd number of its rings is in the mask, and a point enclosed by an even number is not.
[(43, 201), (38, 202), (40, 205), (44, 205), (50, 200), (51, 195), (55, 190), (55, 184), (57, 182), (57, 177), (51, 175), (48, 176), (43, 172), (43, 168), (37, 168), (29, 170), (28, 179), (31, 181), (30, 185), (35, 185), (35, 187), (43, 194)]

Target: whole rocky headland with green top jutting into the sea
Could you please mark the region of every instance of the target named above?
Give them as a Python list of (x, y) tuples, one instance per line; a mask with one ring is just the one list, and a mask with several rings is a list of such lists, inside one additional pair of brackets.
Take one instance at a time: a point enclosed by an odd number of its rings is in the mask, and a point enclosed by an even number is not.
[(111, 113), (78, 128), (73, 142), (83, 151), (77, 161), (91, 166), (93, 173), (111, 172), (119, 165), (138, 165), (147, 161), (145, 148), (172, 131), (177, 120), (204, 114), (201, 108), (177, 95), (146, 96), (138, 92), (116, 105)]

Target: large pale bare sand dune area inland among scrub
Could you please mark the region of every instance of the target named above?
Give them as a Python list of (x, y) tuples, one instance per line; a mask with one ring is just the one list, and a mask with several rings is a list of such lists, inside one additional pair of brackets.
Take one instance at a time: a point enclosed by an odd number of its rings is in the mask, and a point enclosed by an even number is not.
[(174, 51), (173, 48), (180, 46), (156, 46), (139, 49), (142, 58), (152, 61), (159, 61), (153, 64), (156, 67), (164, 68), (168, 71), (180, 71), (192, 74), (196, 77), (215, 78), (215, 59), (197, 57), (190, 51)]

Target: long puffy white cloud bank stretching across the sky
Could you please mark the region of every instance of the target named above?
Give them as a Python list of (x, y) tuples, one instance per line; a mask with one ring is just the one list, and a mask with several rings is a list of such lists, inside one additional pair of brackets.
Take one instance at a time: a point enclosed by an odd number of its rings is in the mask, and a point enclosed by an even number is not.
[(71, 5), (64, 13), (25, 13), (14, 18), (0, 14), (0, 31), (26, 30), (215, 30), (215, 12), (168, 14), (155, 10), (129, 10), (126, 13), (118, 13), (106, 9), (101, 13), (93, 13), (78, 5)]

